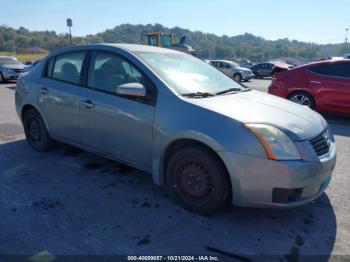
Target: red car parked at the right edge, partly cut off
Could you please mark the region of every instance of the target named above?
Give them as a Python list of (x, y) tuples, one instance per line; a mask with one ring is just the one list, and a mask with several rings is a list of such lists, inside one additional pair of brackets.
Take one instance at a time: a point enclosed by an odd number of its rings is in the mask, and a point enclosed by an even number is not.
[(350, 59), (322, 61), (276, 73), (268, 92), (318, 112), (350, 115)]

